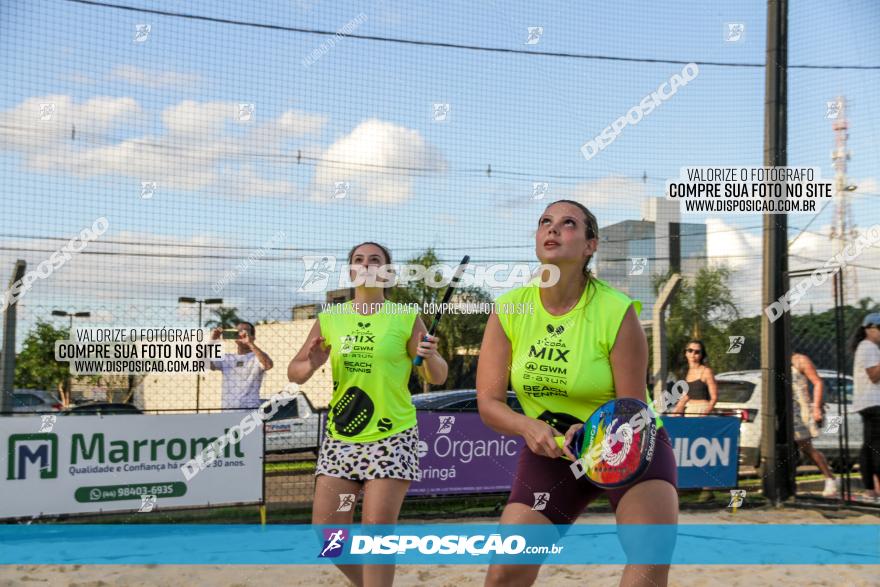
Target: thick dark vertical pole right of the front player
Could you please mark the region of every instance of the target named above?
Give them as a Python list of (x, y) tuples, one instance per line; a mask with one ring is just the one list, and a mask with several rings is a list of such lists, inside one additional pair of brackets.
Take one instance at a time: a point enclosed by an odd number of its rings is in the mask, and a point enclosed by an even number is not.
[[(764, 165), (787, 163), (788, 2), (767, 1), (767, 55), (764, 99)], [(764, 217), (763, 306), (782, 297), (788, 289), (788, 217)], [(792, 459), (792, 401), (789, 316), (770, 322), (761, 315), (761, 457), (764, 496), (779, 504), (794, 495), (795, 463)]]

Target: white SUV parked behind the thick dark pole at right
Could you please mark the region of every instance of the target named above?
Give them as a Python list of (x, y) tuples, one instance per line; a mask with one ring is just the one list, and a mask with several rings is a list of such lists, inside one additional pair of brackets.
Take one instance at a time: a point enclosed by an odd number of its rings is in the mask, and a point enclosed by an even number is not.
[[(819, 436), (813, 439), (813, 446), (822, 451), (829, 460), (838, 461), (841, 456), (838, 435), (844, 432), (843, 422), (839, 423), (837, 432), (831, 432), (832, 418), (837, 416), (837, 372), (826, 369), (818, 369), (817, 372), (825, 383), (822, 398), (822, 403), (825, 404), (825, 421), (819, 430)], [(737, 416), (740, 419), (740, 463), (757, 467), (760, 464), (761, 451), (761, 371), (731, 371), (720, 373), (715, 379), (718, 382), (718, 402), (713, 413)], [(845, 381), (849, 461), (855, 463), (862, 447), (862, 419), (852, 411), (852, 377), (846, 376)]]

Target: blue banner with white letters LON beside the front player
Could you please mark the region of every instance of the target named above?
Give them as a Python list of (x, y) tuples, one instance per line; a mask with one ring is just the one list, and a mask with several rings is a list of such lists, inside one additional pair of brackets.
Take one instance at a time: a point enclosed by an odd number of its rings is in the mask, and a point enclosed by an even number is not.
[(737, 486), (739, 418), (663, 418), (678, 465), (679, 489)]

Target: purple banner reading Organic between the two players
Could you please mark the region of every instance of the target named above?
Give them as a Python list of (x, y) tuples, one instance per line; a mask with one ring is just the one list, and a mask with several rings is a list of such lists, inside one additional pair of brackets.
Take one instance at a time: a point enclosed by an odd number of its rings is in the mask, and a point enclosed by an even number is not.
[(487, 428), (475, 412), (418, 412), (422, 480), (409, 495), (510, 491), (521, 436)]

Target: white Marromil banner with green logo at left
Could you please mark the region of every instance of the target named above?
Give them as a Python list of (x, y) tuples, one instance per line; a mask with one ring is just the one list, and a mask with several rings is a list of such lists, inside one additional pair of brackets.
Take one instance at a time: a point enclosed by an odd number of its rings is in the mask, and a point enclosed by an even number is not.
[(192, 479), (180, 469), (240, 413), (0, 421), (0, 518), (262, 501), (262, 426)]

